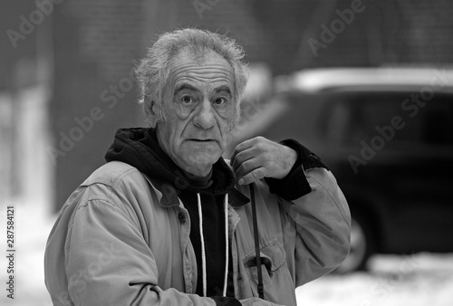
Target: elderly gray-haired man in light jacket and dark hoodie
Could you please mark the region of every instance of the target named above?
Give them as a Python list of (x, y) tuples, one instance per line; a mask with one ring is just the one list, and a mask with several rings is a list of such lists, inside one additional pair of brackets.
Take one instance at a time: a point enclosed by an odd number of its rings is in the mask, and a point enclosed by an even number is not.
[(264, 138), (222, 158), (243, 57), (197, 29), (149, 49), (136, 72), (150, 128), (117, 131), (50, 234), (55, 305), (295, 305), (297, 286), (342, 263), (350, 213), (320, 158)]

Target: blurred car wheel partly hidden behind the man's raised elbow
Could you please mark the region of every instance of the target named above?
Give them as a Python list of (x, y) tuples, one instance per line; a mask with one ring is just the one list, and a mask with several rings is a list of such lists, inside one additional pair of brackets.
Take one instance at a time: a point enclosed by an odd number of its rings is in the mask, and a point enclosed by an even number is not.
[(361, 215), (352, 216), (351, 250), (344, 262), (335, 270), (336, 273), (352, 273), (366, 270), (366, 263), (371, 256), (373, 242), (369, 223)]

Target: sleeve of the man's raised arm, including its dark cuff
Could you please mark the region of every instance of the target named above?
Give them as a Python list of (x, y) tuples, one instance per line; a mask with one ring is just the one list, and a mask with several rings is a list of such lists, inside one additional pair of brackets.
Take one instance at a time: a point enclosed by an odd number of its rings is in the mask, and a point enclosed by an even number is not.
[(333, 271), (350, 250), (351, 214), (328, 167), (294, 140), (298, 159), (287, 177), (265, 181), (284, 210), (284, 243), (296, 286)]

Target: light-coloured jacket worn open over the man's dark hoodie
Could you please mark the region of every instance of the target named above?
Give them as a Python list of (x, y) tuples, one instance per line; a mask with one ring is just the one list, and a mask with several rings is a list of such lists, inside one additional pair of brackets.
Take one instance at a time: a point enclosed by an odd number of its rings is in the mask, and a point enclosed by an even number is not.
[[(342, 263), (351, 216), (332, 173), (305, 171), (312, 192), (292, 202), (255, 184), (265, 300), (295, 305), (294, 289)], [(246, 186), (236, 186), (249, 196)], [(197, 263), (180, 200), (139, 170), (113, 161), (64, 204), (49, 236), (45, 283), (54, 305), (216, 305), (194, 292)], [(236, 299), (256, 297), (250, 204), (229, 200)], [(209, 259), (207, 259), (209, 260)], [(246, 304), (246, 303), (244, 303)]]

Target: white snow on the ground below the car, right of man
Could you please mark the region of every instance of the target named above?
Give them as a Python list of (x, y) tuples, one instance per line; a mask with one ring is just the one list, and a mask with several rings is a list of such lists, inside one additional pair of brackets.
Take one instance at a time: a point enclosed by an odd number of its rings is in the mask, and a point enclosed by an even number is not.
[(369, 273), (330, 274), (296, 292), (298, 305), (451, 306), (453, 254), (376, 255)]

